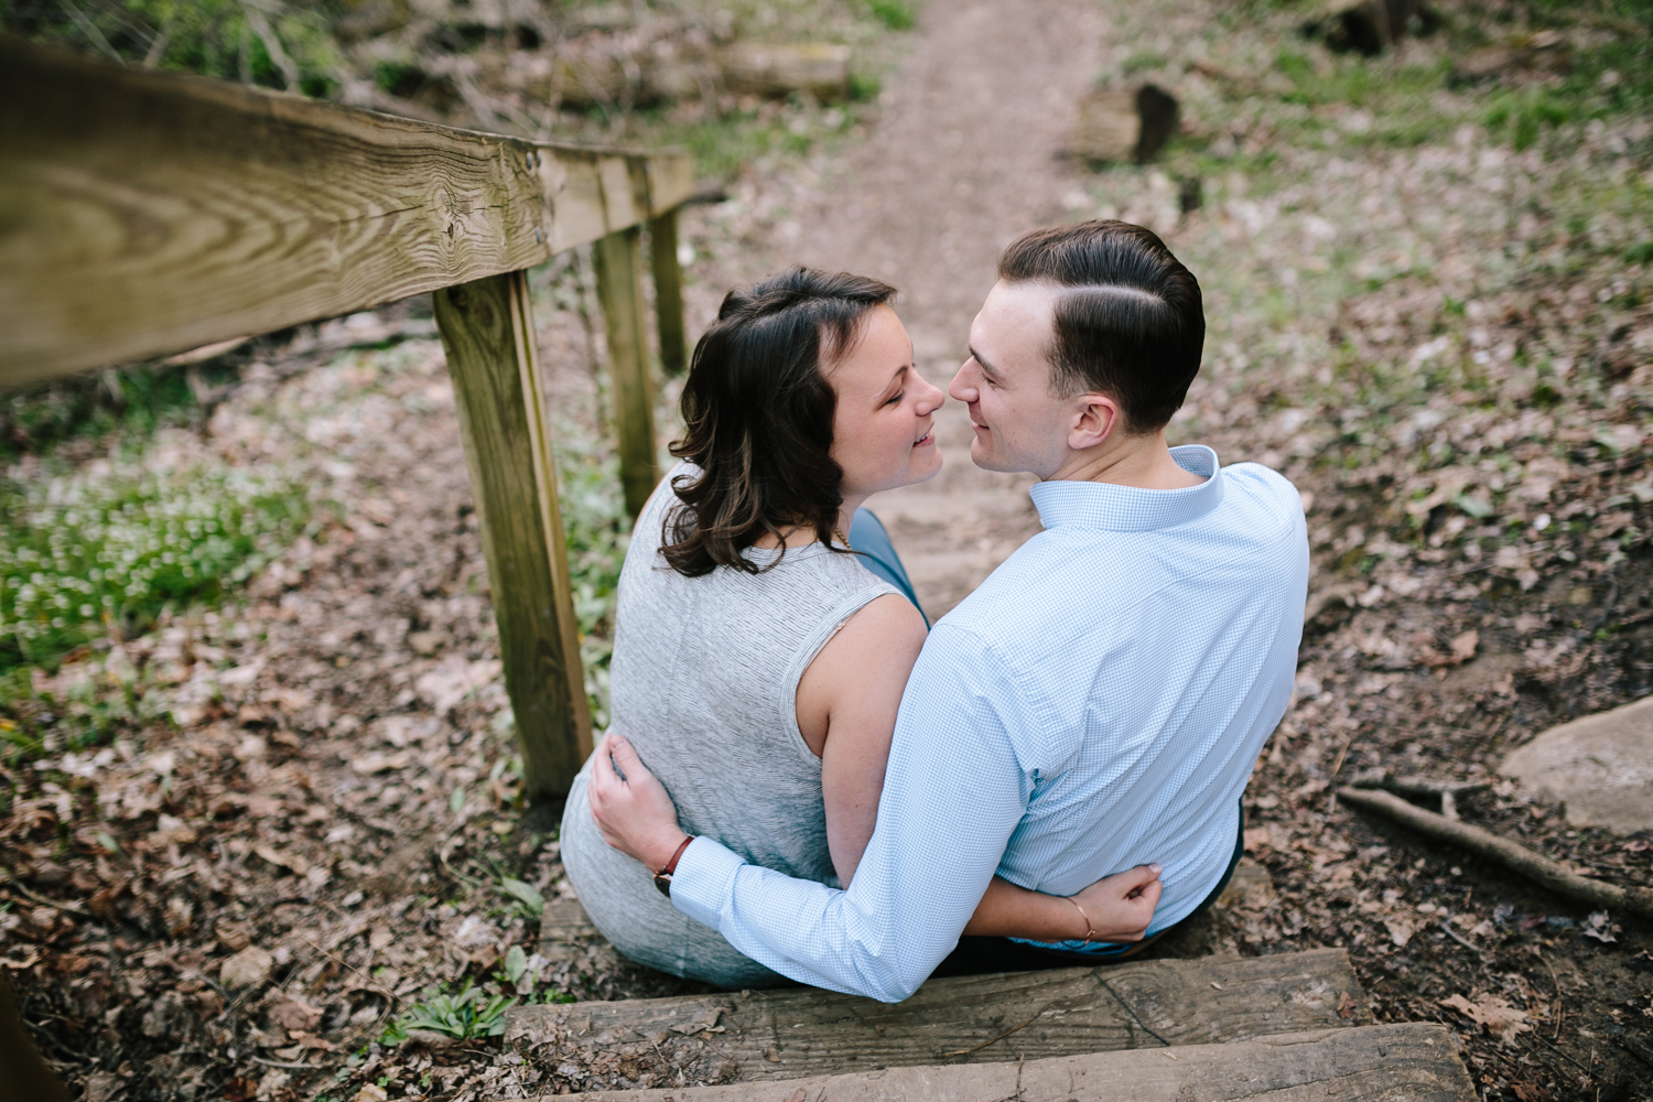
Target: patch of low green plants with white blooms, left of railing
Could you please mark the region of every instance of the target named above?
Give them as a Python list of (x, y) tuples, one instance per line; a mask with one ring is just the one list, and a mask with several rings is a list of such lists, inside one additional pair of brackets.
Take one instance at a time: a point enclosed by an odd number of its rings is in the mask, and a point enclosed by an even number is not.
[(53, 664), (167, 606), (212, 600), (298, 535), (296, 486), (246, 471), (0, 482), (0, 671)]

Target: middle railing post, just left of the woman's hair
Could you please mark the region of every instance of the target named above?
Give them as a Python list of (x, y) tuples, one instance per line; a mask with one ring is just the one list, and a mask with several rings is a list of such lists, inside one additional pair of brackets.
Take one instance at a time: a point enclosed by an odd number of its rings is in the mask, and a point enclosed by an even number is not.
[(655, 387), (643, 325), (643, 258), (633, 226), (597, 241), (597, 296), (608, 334), (608, 397), (620, 446), (620, 482), (633, 517), (655, 492)]

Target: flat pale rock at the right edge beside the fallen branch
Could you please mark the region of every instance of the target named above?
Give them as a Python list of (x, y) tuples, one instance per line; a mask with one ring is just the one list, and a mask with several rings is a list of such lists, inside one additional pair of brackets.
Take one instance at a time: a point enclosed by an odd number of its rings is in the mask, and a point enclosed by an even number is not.
[(1552, 727), (1499, 772), (1562, 800), (1574, 826), (1653, 829), (1653, 697)]

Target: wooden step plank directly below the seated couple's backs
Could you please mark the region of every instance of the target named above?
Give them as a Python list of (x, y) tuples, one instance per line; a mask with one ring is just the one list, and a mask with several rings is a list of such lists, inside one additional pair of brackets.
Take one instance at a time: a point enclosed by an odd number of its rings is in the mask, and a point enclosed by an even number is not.
[(689, 1081), (712, 1072), (759, 1081), (1227, 1043), (1369, 1021), (1347, 953), (1329, 948), (952, 976), (894, 1005), (779, 988), (522, 1006), (507, 1014), (506, 1043), (550, 1069), (585, 1051), (638, 1046)]

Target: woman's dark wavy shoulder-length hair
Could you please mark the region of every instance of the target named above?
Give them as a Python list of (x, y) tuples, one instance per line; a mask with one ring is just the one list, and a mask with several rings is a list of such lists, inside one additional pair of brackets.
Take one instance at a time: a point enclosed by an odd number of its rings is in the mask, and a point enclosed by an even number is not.
[(831, 547), (843, 469), (830, 454), (836, 395), (823, 368), (893, 297), (888, 283), (810, 268), (724, 297), (694, 345), (683, 439), (671, 443), (671, 454), (701, 469), (671, 486), (683, 502), (665, 522), (661, 553), (673, 570), (691, 578), (717, 567), (757, 573), (741, 552), (784, 527), (812, 527)]

